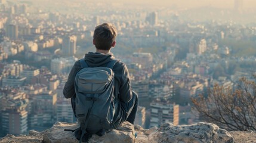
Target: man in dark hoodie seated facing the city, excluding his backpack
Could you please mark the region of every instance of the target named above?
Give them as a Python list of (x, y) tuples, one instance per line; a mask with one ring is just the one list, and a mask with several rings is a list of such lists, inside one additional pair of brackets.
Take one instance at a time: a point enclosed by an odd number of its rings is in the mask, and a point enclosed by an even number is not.
[[(95, 27), (93, 44), (96, 52), (88, 52), (85, 54), (84, 60), (89, 67), (106, 67), (107, 63), (115, 57), (110, 52), (110, 49), (116, 45), (117, 31), (111, 23), (103, 23)], [(63, 89), (64, 97), (71, 98), (72, 108), (75, 113), (75, 76), (81, 70), (81, 64), (75, 62), (69, 77)], [(127, 66), (122, 61), (118, 61), (113, 67), (115, 73), (115, 89), (114, 89), (114, 104), (115, 115), (113, 123), (117, 128), (126, 120), (134, 124), (135, 115), (138, 108), (138, 95), (131, 89), (131, 81)]]

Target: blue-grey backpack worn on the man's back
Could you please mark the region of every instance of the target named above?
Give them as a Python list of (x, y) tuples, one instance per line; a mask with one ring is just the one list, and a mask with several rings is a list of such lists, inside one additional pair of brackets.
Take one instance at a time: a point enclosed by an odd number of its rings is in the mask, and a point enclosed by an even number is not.
[(118, 61), (111, 60), (106, 67), (89, 67), (84, 58), (80, 60), (82, 69), (75, 76), (75, 114), (80, 128), (66, 129), (75, 131), (79, 142), (82, 138), (87, 142), (92, 134), (102, 136), (105, 132), (115, 129), (115, 74), (112, 69)]

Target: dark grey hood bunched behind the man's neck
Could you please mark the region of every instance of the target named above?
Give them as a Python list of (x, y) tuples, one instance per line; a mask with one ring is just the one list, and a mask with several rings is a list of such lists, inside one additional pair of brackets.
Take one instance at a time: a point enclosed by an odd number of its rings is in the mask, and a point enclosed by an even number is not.
[(106, 63), (114, 58), (115, 57), (112, 52), (108, 52), (107, 54), (102, 54), (100, 52), (88, 52), (88, 54), (85, 54), (85, 61), (90, 67), (105, 66)]

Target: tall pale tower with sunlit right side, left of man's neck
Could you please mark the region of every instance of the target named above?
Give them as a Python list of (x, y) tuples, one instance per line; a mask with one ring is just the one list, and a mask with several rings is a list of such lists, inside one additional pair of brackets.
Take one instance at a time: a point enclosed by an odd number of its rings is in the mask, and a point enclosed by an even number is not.
[(62, 52), (64, 55), (76, 54), (76, 36), (64, 36), (62, 42)]

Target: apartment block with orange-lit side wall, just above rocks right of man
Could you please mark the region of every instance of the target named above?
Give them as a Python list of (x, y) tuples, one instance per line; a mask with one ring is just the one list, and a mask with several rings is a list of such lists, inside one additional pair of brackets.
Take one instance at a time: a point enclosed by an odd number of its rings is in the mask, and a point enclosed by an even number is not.
[(161, 126), (164, 123), (178, 125), (179, 105), (167, 101), (154, 101), (150, 103), (150, 128)]

